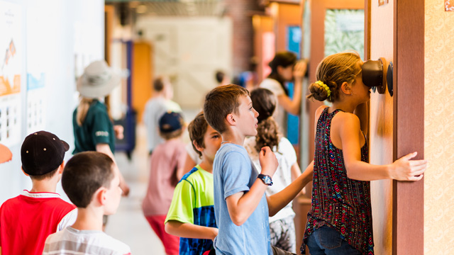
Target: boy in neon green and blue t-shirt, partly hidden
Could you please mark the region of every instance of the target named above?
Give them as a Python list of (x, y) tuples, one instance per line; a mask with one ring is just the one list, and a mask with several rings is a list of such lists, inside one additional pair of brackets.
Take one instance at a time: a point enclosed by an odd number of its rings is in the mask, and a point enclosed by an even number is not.
[(181, 237), (179, 254), (201, 255), (213, 247), (218, 234), (214, 217), (213, 161), (221, 135), (199, 113), (188, 126), (192, 147), (202, 161), (185, 174), (175, 188), (165, 231)]

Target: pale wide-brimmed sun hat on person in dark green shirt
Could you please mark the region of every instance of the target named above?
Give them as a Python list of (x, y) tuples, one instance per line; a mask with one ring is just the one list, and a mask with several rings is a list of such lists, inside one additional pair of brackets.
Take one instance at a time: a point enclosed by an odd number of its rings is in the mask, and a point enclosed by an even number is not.
[(77, 91), (87, 98), (107, 96), (120, 84), (119, 72), (111, 69), (104, 60), (92, 62), (77, 80)]

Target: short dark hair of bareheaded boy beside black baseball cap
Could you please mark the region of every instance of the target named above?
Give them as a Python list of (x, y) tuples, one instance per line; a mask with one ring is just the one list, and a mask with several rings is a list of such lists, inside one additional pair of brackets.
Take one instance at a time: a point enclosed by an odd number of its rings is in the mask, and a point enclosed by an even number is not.
[(75, 154), (62, 174), (63, 191), (78, 208), (87, 208), (99, 188), (110, 187), (114, 179), (112, 166), (112, 159), (101, 152)]

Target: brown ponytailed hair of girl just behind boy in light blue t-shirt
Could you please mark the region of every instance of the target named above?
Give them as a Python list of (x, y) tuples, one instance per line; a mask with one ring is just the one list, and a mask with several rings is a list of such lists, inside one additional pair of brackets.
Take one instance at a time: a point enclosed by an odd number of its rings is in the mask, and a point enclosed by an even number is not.
[[(253, 108), (258, 112), (258, 127), (257, 135), (255, 136), (255, 149), (260, 152), (260, 149), (265, 146), (279, 146), (281, 134), (279, 126), (272, 118), (272, 113), (276, 108), (276, 96), (268, 89), (254, 89), (250, 92), (250, 100), (253, 101)], [(276, 149), (277, 151), (277, 149)]]

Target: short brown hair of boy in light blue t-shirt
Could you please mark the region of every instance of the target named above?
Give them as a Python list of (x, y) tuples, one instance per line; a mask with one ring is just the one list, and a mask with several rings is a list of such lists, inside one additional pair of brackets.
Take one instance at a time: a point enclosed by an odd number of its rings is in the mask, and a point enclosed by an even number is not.
[(242, 86), (230, 84), (212, 89), (205, 97), (204, 113), (206, 122), (214, 130), (223, 133), (227, 130), (226, 117), (230, 113), (238, 114), (240, 96), (249, 96), (249, 91)]

